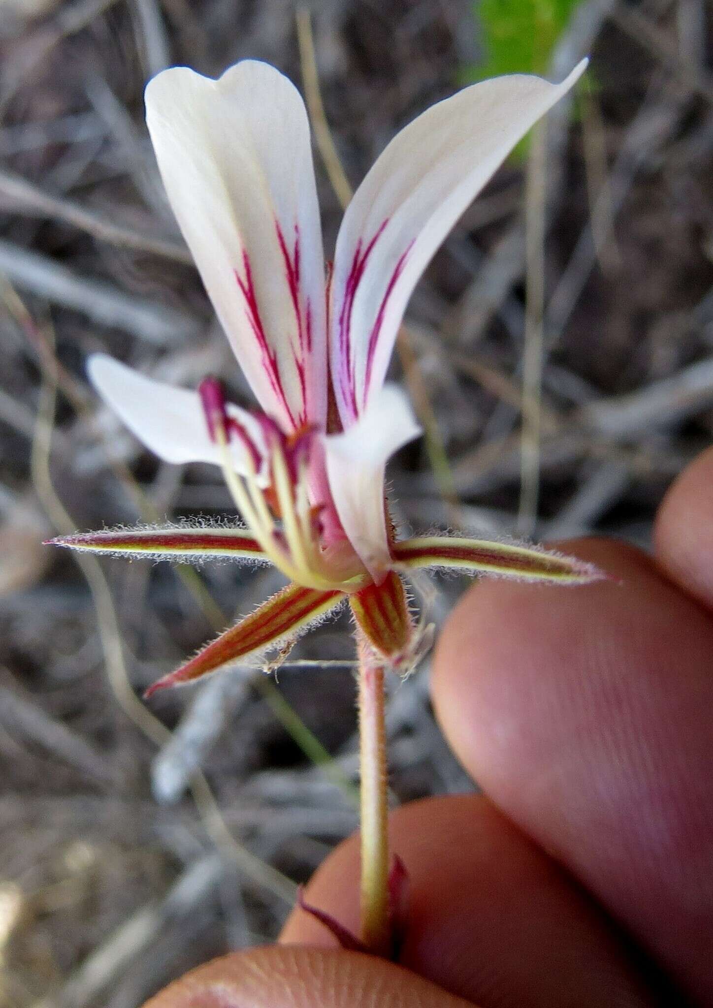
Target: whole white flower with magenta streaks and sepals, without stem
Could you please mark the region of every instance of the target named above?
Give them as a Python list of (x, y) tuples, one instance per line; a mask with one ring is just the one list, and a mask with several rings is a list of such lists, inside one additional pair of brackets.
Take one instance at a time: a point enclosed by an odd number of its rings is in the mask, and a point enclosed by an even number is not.
[(374, 649), (398, 663), (412, 644), (395, 573), (407, 566), (570, 583), (596, 577), (531, 547), (394, 542), (384, 500), (388, 458), (421, 432), (403, 392), (384, 384), (411, 291), (471, 201), (585, 67), (560, 85), (525, 75), (473, 85), (401, 130), (346, 211), (330, 280), (307, 111), (290, 82), (245, 60), (218, 81), (173, 68), (148, 84), (146, 120), (168, 200), (263, 413), (224, 403), (212, 380), (191, 392), (104, 355), (90, 360), (89, 373), (160, 458), (221, 465), (248, 528), (60, 541), (125, 553), (258, 555), (294, 583), (170, 681), (293, 635), (345, 596)]

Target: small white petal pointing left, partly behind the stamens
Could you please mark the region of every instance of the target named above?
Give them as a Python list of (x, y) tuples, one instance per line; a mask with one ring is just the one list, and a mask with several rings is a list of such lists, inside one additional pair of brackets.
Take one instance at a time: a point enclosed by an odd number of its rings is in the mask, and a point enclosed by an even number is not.
[[(87, 372), (107, 405), (159, 459), (176, 464), (221, 464), (220, 450), (211, 440), (198, 392), (146, 378), (106, 354), (93, 354)], [(227, 408), (229, 415), (240, 421), (263, 454), (264, 438), (259, 422), (239, 406), (230, 403)], [(236, 471), (249, 472), (245, 447), (234, 438), (230, 452)]]

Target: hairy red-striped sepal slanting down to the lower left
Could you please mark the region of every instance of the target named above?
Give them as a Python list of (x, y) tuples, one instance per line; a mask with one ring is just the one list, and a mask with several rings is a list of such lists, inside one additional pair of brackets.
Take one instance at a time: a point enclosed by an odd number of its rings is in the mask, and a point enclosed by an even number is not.
[(150, 685), (144, 698), (148, 699), (157, 689), (166, 686), (200, 679), (238, 658), (255, 655), (291, 640), (310, 623), (336, 609), (344, 598), (342, 592), (318, 592), (314, 588), (287, 585), (263, 602), (254, 613), (204, 647), (195, 658)]

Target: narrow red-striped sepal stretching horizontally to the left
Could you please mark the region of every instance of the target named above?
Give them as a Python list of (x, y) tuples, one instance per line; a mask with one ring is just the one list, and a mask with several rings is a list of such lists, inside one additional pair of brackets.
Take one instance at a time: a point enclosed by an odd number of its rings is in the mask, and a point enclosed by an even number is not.
[[(244, 528), (181, 526), (167, 528), (115, 528), (101, 532), (78, 532), (49, 539), (46, 545), (68, 546), (93, 553), (118, 556), (148, 556), (152, 559), (202, 559), (227, 556), (232, 559), (264, 557), (257, 540)], [(266, 557), (264, 557), (266, 558)]]

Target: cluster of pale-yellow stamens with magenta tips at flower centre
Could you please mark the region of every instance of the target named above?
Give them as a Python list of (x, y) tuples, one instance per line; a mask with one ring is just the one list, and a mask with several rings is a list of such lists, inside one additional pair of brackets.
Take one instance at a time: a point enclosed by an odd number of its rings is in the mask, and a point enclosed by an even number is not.
[[(236, 508), (265, 555), (287, 578), (306, 588), (353, 592), (368, 581), (351, 556), (322, 545), (322, 506), (309, 493), (310, 455), (315, 430), (304, 426), (284, 434), (270, 417), (258, 414), (262, 445), (227, 410), (215, 378), (199, 386), (211, 438), (221, 453), (223, 478)], [(230, 443), (245, 449), (246, 472), (235, 471)], [(346, 559), (346, 562), (345, 562)], [(341, 562), (340, 562), (341, 561)]]

